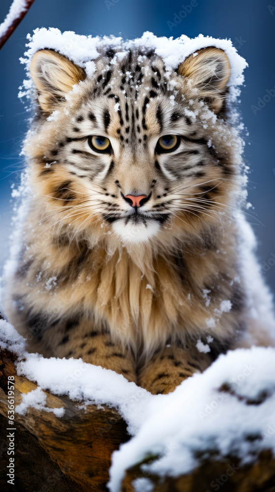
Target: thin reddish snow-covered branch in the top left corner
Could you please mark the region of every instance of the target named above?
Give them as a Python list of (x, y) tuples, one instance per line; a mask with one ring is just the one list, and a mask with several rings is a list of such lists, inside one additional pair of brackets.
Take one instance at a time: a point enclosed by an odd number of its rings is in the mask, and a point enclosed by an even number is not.
[(0, 49), (27, 14), (34, 0), (13, 0), (5, 20), (0, 24)]

